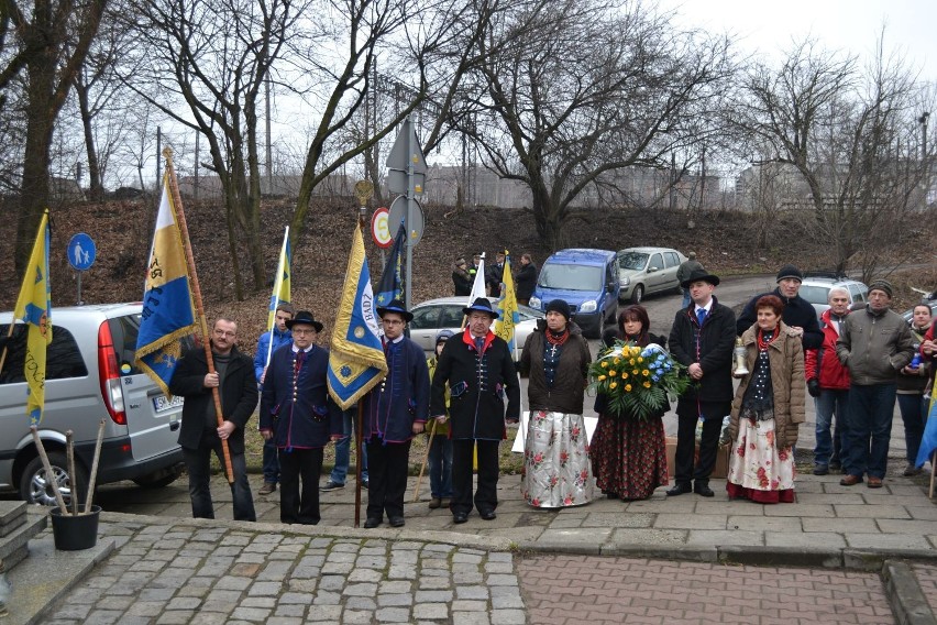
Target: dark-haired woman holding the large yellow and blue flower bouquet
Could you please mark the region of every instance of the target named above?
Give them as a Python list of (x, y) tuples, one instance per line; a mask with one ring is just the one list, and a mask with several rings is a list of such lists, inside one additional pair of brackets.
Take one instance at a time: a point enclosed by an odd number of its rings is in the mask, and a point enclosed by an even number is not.
[[(616, 331), (606, 332), (605, 346), (627, 341), (644, 348), (666, 344), (664, 337), (651, 335), (643, 306), (628, 306), (618, 315)], [(664, 401), (657, 413), (643, 420), (628, 413), (613, 412), (605, 395), (595, 402), (598, 425), (589, 445), (595, 483), (610, 500), (646, 500), (654, 489), (666, 485), (666, 440), (661, 417), (670, 405)]]

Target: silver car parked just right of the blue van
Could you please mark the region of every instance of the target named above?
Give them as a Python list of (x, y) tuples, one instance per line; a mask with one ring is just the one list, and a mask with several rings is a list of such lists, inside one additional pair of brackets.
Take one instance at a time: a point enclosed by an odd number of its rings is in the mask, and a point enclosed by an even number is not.
[(686, 256), (670, 248), (628, 248), (618, 252), (618, 299), (640, 304), (646, 295), (674, 289)]

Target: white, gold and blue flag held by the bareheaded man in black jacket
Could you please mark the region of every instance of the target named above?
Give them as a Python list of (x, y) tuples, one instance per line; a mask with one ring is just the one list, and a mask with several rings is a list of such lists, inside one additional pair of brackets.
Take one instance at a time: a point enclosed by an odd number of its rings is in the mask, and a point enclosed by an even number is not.
[(181, 355), (183, 338), (197, 327), (186, 251), (177, 210), (163, 176), (163, 197), (143, 289), (143, 316), (136, 338), (136, 364), (169, 395), (169, 381)]

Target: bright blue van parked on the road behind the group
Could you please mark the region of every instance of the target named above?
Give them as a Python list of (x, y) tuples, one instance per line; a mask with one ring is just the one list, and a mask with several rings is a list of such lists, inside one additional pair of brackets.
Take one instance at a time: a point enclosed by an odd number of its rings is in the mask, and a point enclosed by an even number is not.
[(553, 299), (570, 305), (583, 335), (597, 339), (618, 316), (618, 256), (608, 250), (570, 249), (550, 255), (540, 267), (530, 307), (545, 310)]

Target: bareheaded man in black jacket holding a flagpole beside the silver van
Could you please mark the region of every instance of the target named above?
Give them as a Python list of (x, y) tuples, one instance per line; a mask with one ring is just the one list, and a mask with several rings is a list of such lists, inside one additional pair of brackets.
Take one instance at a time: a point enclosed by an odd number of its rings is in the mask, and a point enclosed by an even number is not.
[[(211, 502), (211, 453), (224, 467), (221, 441), (228, 441), (234, 483), (234, 520), (257, 520), (244, 460), (244, 427), (257, 406), (257, 383), (251, 357), (238, 351), (238, 325), (220, 318), (211, 333), (214, 372), (209, 373), (203, 348), (188, 351), (176, 366), (169, 392), (186, 398), (179, 445), (189, 474), (192, 517), (214, 518)], [(223, 421), (218, 425), (212, 390), (221, 394)]]

